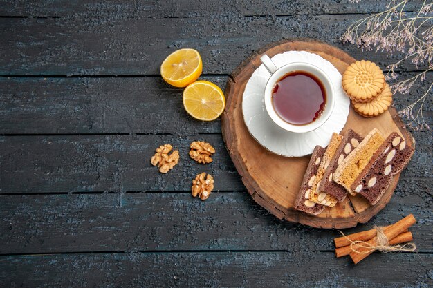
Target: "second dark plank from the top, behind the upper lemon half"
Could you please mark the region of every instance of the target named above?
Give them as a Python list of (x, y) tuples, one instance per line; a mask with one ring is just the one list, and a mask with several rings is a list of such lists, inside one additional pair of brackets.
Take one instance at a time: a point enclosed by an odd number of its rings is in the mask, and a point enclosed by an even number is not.
[[(393, 63), (386, 53), (362, 52), (338, 40), (350, 23), (362, 17), (273, 19), (217, 13), (187, 18), (107, 14), (97, 21), (80, 14), (67, 19), (0, 18), (0, 75), (158, 75), (160, 63), (169, 53), (187, 47), (201, 53), (203, 73), (229, 74), (253, 51), (293, 37), (324, 41), (355, 59), (368, 56), (385, 68)], [(405, 68), (419, 69), (409, 63)]]

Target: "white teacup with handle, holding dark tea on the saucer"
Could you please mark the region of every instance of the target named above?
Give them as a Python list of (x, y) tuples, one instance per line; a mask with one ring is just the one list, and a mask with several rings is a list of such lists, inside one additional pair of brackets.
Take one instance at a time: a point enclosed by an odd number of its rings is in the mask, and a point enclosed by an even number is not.
[[(329, 79), (329, 77), (326, 75), (326, 73), (323, 72), (322, 69), (305, 62), (294, 62), (277, 68), (277, 66), (275, 66), (274, 62), (268, 57), (268, 55), (263, 55), (260, 58), (260, 61), (264, 64), (266, 69), (271, 74), (270, 78), (268, 79), (268, 83), (266, 83), (264, 101), (266, 111), (268, 112), (270, 118), (273, 119), (273, 122), (275, 122), (275, 124), (277, 124), (286, 131), (291, 131), (295, 133), (306, 133), (319, 128), (326, 122), (326, 120), (329, 119), (335, 105), (335, 90), (331, 79)], [(324, 90), (326, 92), (326, 103), (324, 111), (322, 111), (320, 117), (317, 117), (317, 119), (315, 119), (313, 122), (304, 125), (295, 125), (284, 121), (284, 119), (282, 119), (282, 117), (277, 114), (272, 103), (273, 88), (275, 84), (280, 79), (282, 79), (284, 75), (287, 75), (288, 73), (294, 71), (305, 71), (306, 73), (314, 75), (322, 82)]]

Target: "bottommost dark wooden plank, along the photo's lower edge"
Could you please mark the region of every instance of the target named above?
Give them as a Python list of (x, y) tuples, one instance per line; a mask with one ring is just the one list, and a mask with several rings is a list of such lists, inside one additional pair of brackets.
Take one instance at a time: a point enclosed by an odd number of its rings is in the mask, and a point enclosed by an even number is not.
[[(375, 253), (357, 267), (349, 261), (335, 260), (331, 252), (304, 251), (8, 256), (0, 257), (0, 285), (268, 287), (270, 282), (273, 287), (301, 288), (433, 285), (432, 254)], [(313, 276), (306, 276), (309, 269), (315, 271)]]

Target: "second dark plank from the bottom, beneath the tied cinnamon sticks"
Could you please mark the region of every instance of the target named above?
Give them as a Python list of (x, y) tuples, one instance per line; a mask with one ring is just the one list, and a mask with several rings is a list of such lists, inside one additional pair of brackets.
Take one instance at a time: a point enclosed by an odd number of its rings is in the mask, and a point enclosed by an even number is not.
[[(383, 211), (344, 233), (413, 213), (420, 252), (433, 252), (427, 181), (407, 180)], [(421, 182), (421, 183), (420, 183)], [(333, 251), (336, 230), (277, 220), (246, 192), (8, 195), (0, 202), (0, 254), (91, 251)], [(253, 239), (253, 240), (252, 240)], [(387, 258), (387, 256), (385, 256)], [(1, 259), (1, 258), (0, 258)], [(1, 261), (1, 260), (0, 260)]]

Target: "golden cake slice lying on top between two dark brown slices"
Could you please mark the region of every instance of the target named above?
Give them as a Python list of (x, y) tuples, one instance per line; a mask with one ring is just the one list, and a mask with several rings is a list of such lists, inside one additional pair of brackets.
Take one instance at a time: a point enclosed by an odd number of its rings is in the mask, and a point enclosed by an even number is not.
[(343, 186), (351, 195), (356, 195), (356, 192), (351, 190), (353, 182), (355, 182), (358, 175), (369, 164), (371, 157), (373, 157), (384, 141), (385, 139), (378, 129), (374, 128), (371, 130), (358, 147), (338, 165), (332, 179)]

